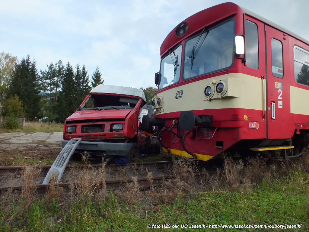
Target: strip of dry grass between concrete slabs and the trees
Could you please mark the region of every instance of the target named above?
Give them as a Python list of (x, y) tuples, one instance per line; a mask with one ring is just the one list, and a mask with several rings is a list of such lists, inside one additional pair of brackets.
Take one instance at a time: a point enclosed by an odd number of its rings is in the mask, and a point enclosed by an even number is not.
[(25, 123), (25, 128), (17, 128), (8, 130), (0, 127), (0, 133), (13, 133), (13, 132), (63, 132), (63, 124), (52, 123), (52, 122), (31, 122), (27, 121)]

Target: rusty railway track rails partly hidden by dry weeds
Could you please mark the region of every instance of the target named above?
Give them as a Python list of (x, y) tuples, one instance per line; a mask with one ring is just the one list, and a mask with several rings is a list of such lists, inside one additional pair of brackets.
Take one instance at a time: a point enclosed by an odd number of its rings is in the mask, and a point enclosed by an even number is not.
[[(167, 169), (168, 167), (171, 167), (174, 162), (182, 162), (182, 161), (159, 161), (159, 162), (145, 162), (145, 163), (130, 163), (130, 164), (125, 164), (125, 165), (106, 165), (106, 168), (109, 168), (112, 171), (119, 171), (121, 169), (124, 169), (125, 167), (130, 167), (136, 170), (140, 169), (146, 169), (147, 167), (152, 167), (156, 169)], [(29, 167), (29, 166), (28, 166)], [(30, 166), (31, 167), (31, 166)], [(44, 166), (32, 166), (35, 168), (40, 168), (42, 169), (43, 172), (47, 172), (49, 168), (51, 167), (50, 165), (44, 165)], [(86, 165), (86, 167), (92, 167), (94, 169), (102, 167), (100, 164), (95, 164), (95, 165)], [(25, 169), (26, 166), (7, 166), (7, 167), (0, 167), (0, 175), (4, 175), (6, 173), (12, 173), (12, 174), (19, 174), (23, 169)], [(84, 169), (85, 165), (71, 165), (67, 166), (66, 170), (70, 169)], [(209, 172), (210, 174), (212, 172)], [(195, 172), (193, 174), (193, 178), (199, 177), (200, 172)], [(162, 183), (164, 180), (168, 180), (171, 178), (175, 178), (176, 176), (174, 174), (160, 174), (157, 176), (153, 176), (151, 178), (151, 182), (149, 178), (147, 177), (139, 177), (137, 178), (138, 185), (141, 189), (147, 189), (151, 187), (152, 185), (156, 185), (159, 183)], [(133, 182), (133, 178), (112, 178), (112, 179), (106, 179), (105, 183), (107, 187), (111, 188), (117, 188), (120, 187), (121, 185), (124, 185), (126, 183), (131, 183)], [(74, 185), (76, 183), (59, 183), (59, 187), (64, 187), (68, 188), (70, 185)], [(44, 195), (46, 191), (49, 189), (49, 184), (36, 184), (33, 187), (36, 189), (37, 193), (40, 195)], [(0, 195), (2, 195), (4, 192), (6, 192), (8, 189), (12, 189), (13, 191), (21, 191), (23, 189), (23, 186), (21, 185), (14, 185), (14, 186), (5, 186), (5, 187), (0, 187)]]

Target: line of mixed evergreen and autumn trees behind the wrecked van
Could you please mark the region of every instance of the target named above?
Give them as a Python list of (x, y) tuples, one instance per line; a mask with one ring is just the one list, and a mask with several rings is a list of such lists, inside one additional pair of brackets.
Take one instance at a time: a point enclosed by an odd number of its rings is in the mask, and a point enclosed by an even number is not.
[[(18, 62), (17, 57), (0, 53), (0, 93), (5, 95), (1, 100), (2, 116), (28, 120), (45, 118), (47, 122), (63, 123), (90, 90), (103, 83), (98, 67), (91, 78), (85, 65), (73, 67), (70, 62), (64, 65), (61, 60), (38, 71), (36, 60), (29, 55)], [(156, 90), (153, 87), (143, 89), (147, 104)]]

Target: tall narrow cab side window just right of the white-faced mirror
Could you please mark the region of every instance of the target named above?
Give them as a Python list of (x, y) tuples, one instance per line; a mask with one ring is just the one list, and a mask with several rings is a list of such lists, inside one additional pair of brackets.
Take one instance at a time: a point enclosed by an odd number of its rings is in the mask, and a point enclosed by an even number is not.
[(249, 68), (259, 68), (259, 43), (257, 25), (246, 20), (246, 64)]

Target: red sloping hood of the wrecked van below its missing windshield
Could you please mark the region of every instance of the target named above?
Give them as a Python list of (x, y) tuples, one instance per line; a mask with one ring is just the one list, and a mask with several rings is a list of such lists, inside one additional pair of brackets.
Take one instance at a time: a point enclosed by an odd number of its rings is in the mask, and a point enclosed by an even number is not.
[(70, 117), (66, 119), (67, 121), (74, 121), (74, 120), (89, 120), (89, 119), (125, 119), (126, 116), (132, 110), (78, 110), (75, 111)]

